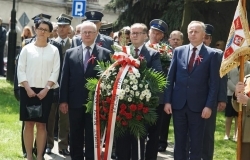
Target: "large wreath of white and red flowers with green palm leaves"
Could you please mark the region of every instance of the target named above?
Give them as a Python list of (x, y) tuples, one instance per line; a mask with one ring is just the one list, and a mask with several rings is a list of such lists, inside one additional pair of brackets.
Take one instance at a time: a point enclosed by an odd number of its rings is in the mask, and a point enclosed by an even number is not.
[[(166, 77), (163, 72), (147, 68), (147, 62), (141, 55), (133, 58), (133, 49), (127, 47), (127, 52), (118, 45), (113, 46), (114, 63), (98, 62), (97, 69), (100, 79), (87, 79), (86, 88), (90, 91), (87, 112), (93, 112), (95, 92), (99, 83), (99, 119), (101, 134), (109, 123), (109, 113), (112, 109), (112, 96), (115, 93), (115, 84), (121, 69), (128, 65), (129, 69), (121, 81), (121, 88), (116, 90), (119, 96), (114, 135), (122, 136), (129, 132), (136, 138), (146, 135), (146, 125), (156, 122), (156, 107), (159, 104), (159, 92), (166, 87)], [(130, 48), (130, 49), (128, 49)]]

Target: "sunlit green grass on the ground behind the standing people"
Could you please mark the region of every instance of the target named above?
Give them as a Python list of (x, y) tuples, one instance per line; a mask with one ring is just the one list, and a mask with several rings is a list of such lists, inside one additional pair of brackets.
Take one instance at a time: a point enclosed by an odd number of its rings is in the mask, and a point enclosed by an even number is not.
[[(224, 112), (217, 114), (214, 160), (235, 160), (236, 143), (225, 141)], [(234, 131), (232, 125), (231, 133)], [(21, 122), (19, 104), (13, 95), (13, 86), (0, 79), (0, 160), (23, 160), (21, 149)], [(173, 143), (174, 133), (170, 126), (169, 141)]]

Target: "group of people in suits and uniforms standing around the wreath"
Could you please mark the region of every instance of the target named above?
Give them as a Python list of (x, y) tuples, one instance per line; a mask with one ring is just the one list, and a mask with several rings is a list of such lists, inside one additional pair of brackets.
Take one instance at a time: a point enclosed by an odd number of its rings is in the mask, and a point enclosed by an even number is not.
[[(92, 115), (86, 113), (84, 105), (88, 98), (85, 84), (86, 79), (98, 77), (94, 69), (97, 61), (111, 61), (114, 40), (99, 32), (101, 12), (89, 11), (85, 16), (71, 39), (73, 17), (61, 14), (53, 26), (49, 15), (37, 15), (33, 18), (35, 36), (24, 40), (17, 60), (16, 82), (20, 88), (20, 120), (24, 122), (23, 150), (28, 160), (33, 158), (34, 139), (38, 160), (43, 159), (44, 153), (51, 154), (57, 113), (59, 153), (70, 155), (72, 160), (94, 160)], [(124, 27), (115, 42), (131, 45), (146, 59), (147, 67), (163, 71), (169, 83), (159, 96), (156, 124), (147, 127), (148, 138), (140, 139), (140, 157), (156, 160), (158, 151), (166, 150), (172, 114), (174, 159), (212, 160), (216, 113), (224, 110), (227, 102), (227, 76), (219, 77), (223, 52), (209, 47), (213, 26), (192, 21), (187, 28), (188, 45), (182, 45), (180, 31), (171, 32), (168, 45), (173, 57), (169, 68), (162, 68), (159, 51), (149, 47), (162, 41), (167, 24), (154, 19), (149, 26), (149, 30), (142, 23)], [(58, 37), (50, 39), (54, 30)], [(95, 61), (89, 63), (93, 56)], [(29, 118), (29, 105), (42, 105), (42, 116)], [(138, 160), (138, 141), (130, 133), (114, 141), (112, 158)]]

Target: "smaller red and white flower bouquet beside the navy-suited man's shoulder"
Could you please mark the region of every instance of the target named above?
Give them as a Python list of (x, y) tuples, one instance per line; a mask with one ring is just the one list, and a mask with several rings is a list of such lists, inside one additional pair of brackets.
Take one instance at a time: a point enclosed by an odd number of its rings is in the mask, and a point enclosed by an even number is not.
[(173, 57), (172, 47), (163, 42), (157, 44), (149, 44), (149, 47), (157, 50), (160, 53), (162, 68), (167, 69)]

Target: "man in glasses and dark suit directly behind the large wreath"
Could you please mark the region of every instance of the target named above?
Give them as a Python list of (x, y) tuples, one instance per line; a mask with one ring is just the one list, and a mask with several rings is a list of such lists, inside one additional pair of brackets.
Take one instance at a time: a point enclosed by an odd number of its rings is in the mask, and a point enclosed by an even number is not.
[[(160, 54), (158, 51), (145, 46), (144, 42), (147, 39), (148, 29), (145, 24), (135, 23), (130, 29), (130, 39), (132, 49), (135, 51), (134, 56), (141, 55), (147, 61), (147, 67), (153, 68), (156, 71), (162, 71)], [(157, 138), (158, 141), (158, 138)], [(116, 140), (116, 156), (118, 160), (138, 160), (137, 139), (130, 133), (126, 133), (123, 137)], [(158, 146), (156, 146), (157, 149)], [(141, 159), (144, 159), (145, 138), (140, 140)]]

